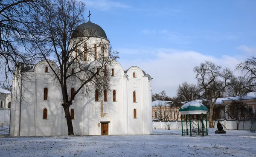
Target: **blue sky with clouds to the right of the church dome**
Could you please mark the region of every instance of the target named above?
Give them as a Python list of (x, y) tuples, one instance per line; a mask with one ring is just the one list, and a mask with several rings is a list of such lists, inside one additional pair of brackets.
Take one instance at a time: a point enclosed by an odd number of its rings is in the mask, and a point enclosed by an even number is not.
[(123, 68), (152, 76), (153, 93), (175, 96), (178, 84), (196, 83), (193, 67), (206, 59), (235, 70), (256, 54), (256, 0), (83, 1)]

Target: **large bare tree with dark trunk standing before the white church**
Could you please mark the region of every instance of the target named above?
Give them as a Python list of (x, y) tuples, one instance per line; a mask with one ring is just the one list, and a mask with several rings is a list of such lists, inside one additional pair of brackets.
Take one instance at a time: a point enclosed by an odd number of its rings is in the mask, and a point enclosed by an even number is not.
[[(34, 22), (29, 25), (30, 50), (38, 60), (44, 59), (54, 73), (56, 86), (61, 90), (61, 106), (65, 112), (68, 135), (74, 135), (69, 111), (74, 98), (78, 94), (88, 95), (98, 90), (97, 93), (100, 95), (103, 93), (101, 91), (109, 90), (108, 69), (118, 56), (106, 40), (101, 38), (95, 47), (86, 47), (85, 44), (96, 37), (96, 30), (76, 30), (77, 26), (84, 22), (83, 2), (52, 0), (51, 3), (51, 7), (42, 3), (40, 11), (31, 14)], [(88, 34), (80, 37), (83, 31), (87, 31)], [(77, 36), (73, 36), (74, 32)], [(101, 51), (96, 53), (99, 49)], [(95, 62), (85, 64), (86, 56), (94, 58)], [(76, 89), (72, 88), (72, 82), (76, 82)]]

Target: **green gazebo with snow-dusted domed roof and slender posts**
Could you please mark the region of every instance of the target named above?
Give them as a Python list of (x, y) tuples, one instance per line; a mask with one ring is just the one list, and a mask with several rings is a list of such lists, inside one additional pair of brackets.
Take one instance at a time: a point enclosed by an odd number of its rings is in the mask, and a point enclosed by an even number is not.
[[(203, 132), (202, 135), (204, 135), (204, 123), (203, 123), (203, 114), (205, 114), (205, 121), (206, 121), (206, 135), (208, 135), (208, 129), (207, 129), (207, 112), (209, 110), (207, 109), (206, 106), (204, 106), (202, 103), (196, 102), (196, 101), (190, 101), (184, 105), (182, 105), (179, 109), (179, 112), (181, 114), (181, 129), (182, 133), (181, 135), (183, 136), (183, 122), (182, 118), (183, 115), (186, 115), (186, 135), (189, 135), (188, 132), (188, 116), (189, 115), (189, 128), (190, 128), (190, 136), (192, 136), (192, 131), (191, 130), (191, 115), (197, 115), (197, 122), (198, 122), (198, 131), (194, 131), (194, 133), (200, 133)], [(198, 115), (201, 115), (201, 123), (202, 123), (202, 130), (199, 129), (199, 118)]]

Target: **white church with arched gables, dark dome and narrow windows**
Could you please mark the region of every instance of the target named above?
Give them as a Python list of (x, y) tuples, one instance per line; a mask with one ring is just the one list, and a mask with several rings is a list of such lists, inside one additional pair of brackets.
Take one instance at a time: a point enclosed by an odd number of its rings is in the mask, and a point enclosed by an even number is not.
[[(96, 30), (94, 35), (86, 31)], [(77, 31), (82, 30), (79, 34)], [(90, 38), (88, 38), (90, 36)], [(95, 50), (94, 56), (81, 60), (84, 67), (95, 66), (101, 52), (99, 42), (109, 41), (105, 31), (95, 23), (79, 25), (72, 39), (88, 38), (86, 47)], [(104, 52), (103, 52), (104, 53)], [(108, 48), (106, 48), (106, 52)], [(75, 53), (72, 54), (76, 55)], [(106, 56), (108, 54), (105, 54)], [(49, 61), (52, 67), (57, 64)], [(67, 121), (61, 104), (61, 90), (54, 81), (54, 75), (46, 60), (37, 64), (23, 64), (23, 75), (32, 81), (14, 77), (12, 84), (12, 105), (10, 118), (11, 136), (64, 136), (68, 135)], [(72, 69), (73, 73), (73, 69)], [(151, 80), (148, 73), (137, 66), (123, 70), (115, 61), (111, 66), (110, 91), (99, 96), (92, 89), (89, 96), (76, 95), (70, 106), (75, 135), (149, 135), (152, 134)], [(26, 78), (23, 78), (26, 79)], [(72, 82), (72, 91), (76, 82)]]

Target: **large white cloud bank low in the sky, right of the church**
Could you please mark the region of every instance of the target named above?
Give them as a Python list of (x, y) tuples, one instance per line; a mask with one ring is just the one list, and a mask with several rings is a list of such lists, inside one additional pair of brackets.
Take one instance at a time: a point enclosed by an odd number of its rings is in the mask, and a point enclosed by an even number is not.
[[(140, 50), (133, 51), (138, 52)], [(149, 73), (153, 78), (152, 92), (159, 93), (165, 90), (169, 96), (175, 96), (178, 84), (184, 81), (197, 83), (193, 68), (199, 66), (204, 60), (211, 60), (222, 67), (229, 67), (231, 70), (235, 70), (236, 65), (246, 58), (245, 56), (222, 56), (221, 58), (215, 58), (214, 56), (206, 56), (195, 51), (163, 48), (152, 51), (157, 54), (154, 59), (135, 59), (129, 61), (120, 59), (119, 62), (124, 69), (136, 65)], [(236, 72), (236, 75), (240, 75), (239, 72)]]

